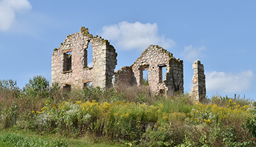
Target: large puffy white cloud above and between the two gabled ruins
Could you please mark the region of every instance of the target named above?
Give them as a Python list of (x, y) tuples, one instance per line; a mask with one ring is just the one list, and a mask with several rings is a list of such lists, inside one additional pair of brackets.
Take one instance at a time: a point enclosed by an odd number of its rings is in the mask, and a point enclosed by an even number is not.
[(120, 22), (111, 26), (102, 27), (103, 38), (116, 42), (119, 49), (147, 49), (151, 44), (159, 45), (164, 49), (172, 47), (175, 42), (158, 35), (157, 24), (141, 24), (140, 22)]

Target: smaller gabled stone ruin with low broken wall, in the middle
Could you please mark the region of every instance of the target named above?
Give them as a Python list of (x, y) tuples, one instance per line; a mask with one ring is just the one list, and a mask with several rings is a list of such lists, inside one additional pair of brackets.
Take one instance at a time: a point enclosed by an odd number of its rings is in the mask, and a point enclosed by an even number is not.
[[(163, 70), (166, 68), (165, 78)], [(115, 71), (113, 84), (143, 86), (143, 70), (148, 71), (148, 86), (157, 93), (183, 91), (183, 61), (158, 45), (150, 45), (133, 65)]]

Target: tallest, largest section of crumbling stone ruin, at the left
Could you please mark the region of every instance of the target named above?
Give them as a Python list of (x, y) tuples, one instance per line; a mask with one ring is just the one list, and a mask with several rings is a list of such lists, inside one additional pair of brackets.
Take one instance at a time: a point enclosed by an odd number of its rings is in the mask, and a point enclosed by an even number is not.
[[(88, 82), (93, 87), (110, 88), (114, 74), (116, 50), (100, 36), (93, 36), (88, 28), (81, 27), (77, 33), (68, 35), (52, 53), (52, 84), (58, 82), (63, 88), (83, 88)], [(93, 65), (88, 67), (88, 45), (91, 43)]]

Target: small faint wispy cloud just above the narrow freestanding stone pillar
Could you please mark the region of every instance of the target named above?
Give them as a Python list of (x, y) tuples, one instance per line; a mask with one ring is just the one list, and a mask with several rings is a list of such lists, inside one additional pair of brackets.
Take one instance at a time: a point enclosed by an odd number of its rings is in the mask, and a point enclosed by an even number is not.
[(206, 47), (202, 45), (201, 47), (193, 47), (192, 45), (185, 46), (184, 51), (181, 52), (182, 56), (187, 61), (196, 61), (196, 59), (203, 56), (202, 50), (205, 50)]

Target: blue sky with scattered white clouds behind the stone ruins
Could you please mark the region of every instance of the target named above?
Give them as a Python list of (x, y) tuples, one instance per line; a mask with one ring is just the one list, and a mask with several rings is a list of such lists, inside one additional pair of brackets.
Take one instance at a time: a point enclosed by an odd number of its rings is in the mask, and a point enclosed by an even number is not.
[(34, 75), (51, 81), (51, 55), (67, 35), (88, 27), (111, 40), (118, 65), (129, 66), (156, 44), (205, 67), (207, 95), (256, 98), (256, 1), (0, 1), (0, 79), (20, 88)]

